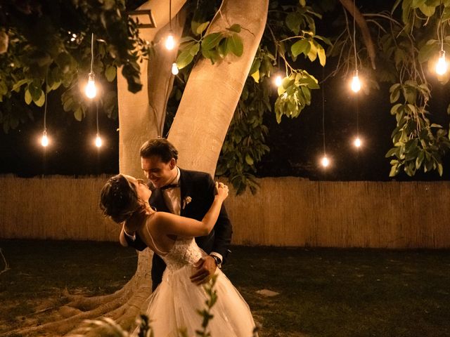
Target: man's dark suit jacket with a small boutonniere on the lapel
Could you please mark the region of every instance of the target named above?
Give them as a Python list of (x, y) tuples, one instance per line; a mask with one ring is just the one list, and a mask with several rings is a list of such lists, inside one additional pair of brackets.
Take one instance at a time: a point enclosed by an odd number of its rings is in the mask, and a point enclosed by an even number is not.
[[(214, 181), (211, 176), (205, 172), (180, 169), (179, 183), (181, 186), (181, 216), (202, 220), (214, 200), (215, 189)], [(191, 197), (191, 202), (184, 205), (186, 197)], [(157, 211), (169, 212), (160, 189), (153, 191), (149, 202)], [(225, 206), (222, 205), (217, 223), (214, 225), (210, 234), (205, 237), (196, 237), (195, 242), (197, 242), (198, 246), (207, 253), (211, 253), (212, 251), (220, 253), (224, 258), (222, 261), (224, 263), (231, 243), (232, 232), (231, 222), (226, 213)], [(137, 234), (134, 242), (128, 237), (126, 237), (126, 239), (129, 246), (132, 246), (139, 251), (143, 251), (143, 249), (147, 248), (146, 244), (142, 242)], [(165, 268), (166, 265), (162, 258), (157, 254), (154, 254), (152, 265), (153, 290), (161, 283), (162, 273)]]

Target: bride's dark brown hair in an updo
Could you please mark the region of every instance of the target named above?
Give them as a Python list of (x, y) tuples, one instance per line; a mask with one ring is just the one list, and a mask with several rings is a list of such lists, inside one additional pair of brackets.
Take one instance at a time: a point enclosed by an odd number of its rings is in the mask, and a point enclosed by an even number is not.
[(103, 215), (122, 223), (143, 208), (134, 185), (122, 174), (109, 178), (101, 189), (100, 208)]

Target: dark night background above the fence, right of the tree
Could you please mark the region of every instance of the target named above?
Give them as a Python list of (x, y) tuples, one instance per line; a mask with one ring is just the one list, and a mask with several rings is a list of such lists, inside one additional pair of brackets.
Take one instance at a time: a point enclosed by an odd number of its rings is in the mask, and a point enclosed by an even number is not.
[[(320, 79), (320, 75), (315, 74)], [(431, 120), (443, 126), (449, 125), (446, 107), (446, 88), (433, 84), (435, 99), (430, 105)], [(268, 119), (268, 143), (271, 153), (264, 157), (261, 176), (301, 176), (311, 180), (392, 180), (389, 177), (390, 159), (385, 153), (392, 147), (390, 135), (395, 119), (390, 115), (389, 86), (372, 90), (367, 95), (355, 95), (349, 91), (342, 78), (326, 81), (324, 87), (326, 153), (332, 160), (324, 170), (319, 166), (323, 154), (321, 91), (313, 93), (313, 102), (297, 119), (285, 119), (276, 124)], [(356, 114), (356, 112), (358, 112)], [(359, 135), (363, 146), (356, 150), (352, 145), (356, 135), (358, 115)], [(417, 172), (410, 178), (400, 173), (396, 180), (449, 180), (450, 155), (444, 159), (444, 175), (435, 172)]]

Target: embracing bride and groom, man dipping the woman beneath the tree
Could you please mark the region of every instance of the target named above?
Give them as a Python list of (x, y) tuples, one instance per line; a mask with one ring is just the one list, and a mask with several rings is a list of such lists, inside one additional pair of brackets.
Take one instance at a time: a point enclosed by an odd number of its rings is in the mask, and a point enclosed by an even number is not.
[(228, 187), (207, 173), (176, 166), (178, 152), (163, 138), (148, 140), (140, 154), (153, 191), (143, 180), (119, 174), (103, 187), (101, 209), (122, 224), (123, 246), (155, 253), (146, 312), (155, 336), (176, 337), (181, 328), (195, 336), (202, 323), (197, 310), (207, 300), (201, 284), (212, 275), (218, 299), (208, 325), (211, 336), (252, 336), (250, 309), (220, 270), (232, 233), (223, 206)]

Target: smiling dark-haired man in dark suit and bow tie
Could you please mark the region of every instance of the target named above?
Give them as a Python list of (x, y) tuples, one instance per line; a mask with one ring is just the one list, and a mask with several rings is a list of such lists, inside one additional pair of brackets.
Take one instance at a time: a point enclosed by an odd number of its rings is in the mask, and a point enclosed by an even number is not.
[[(146, 178), (153, 184), (150, 206), (157, 211), (174, 213), (187, 218), (202, 220), (214, 200), (214, 181), (205, 172), (187, 171), (176, 166), (178, 151), (164, 138), (154, 138), (143, 143), (140, 150), (141, 167)], [(228, 253), (231, 242), (232, 228), (222, 206), (217, 223), (206, 237), (196, 237), (195, 242), (206, 253), (196, 270), (191, 275), (191, 281), (202, 284), (213, 275), (216, 267), (221, 267)], [(143, 251), (146, 249), (139, 235), (124, 232), (129, 246)], [(152, 288), (155, 291), (161, 283), (165, 263), (157, 254), (153, 255)]]

